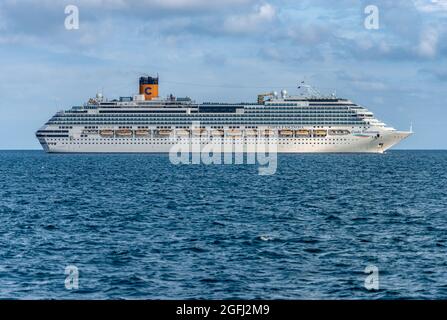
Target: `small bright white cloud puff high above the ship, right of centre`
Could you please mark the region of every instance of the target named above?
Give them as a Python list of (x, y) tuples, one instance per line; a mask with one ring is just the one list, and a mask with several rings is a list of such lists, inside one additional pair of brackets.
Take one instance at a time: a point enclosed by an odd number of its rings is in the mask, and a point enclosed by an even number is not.
[(272, 22), (276, 16), (276, 9), (265, 3), (256, 7), (253, 13), (228, 17), (224, 22), (224, 28), (226, 31), (234, 33), (256, 32)]

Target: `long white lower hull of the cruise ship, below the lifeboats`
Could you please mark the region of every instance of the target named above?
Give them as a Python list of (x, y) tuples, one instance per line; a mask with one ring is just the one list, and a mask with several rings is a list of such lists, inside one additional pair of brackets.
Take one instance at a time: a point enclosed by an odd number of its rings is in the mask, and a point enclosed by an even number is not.
[(322, 138), (40, 138), (50, 153), (383, 153), (411, 132), (384, 131), (380, 137), (327, 136)]

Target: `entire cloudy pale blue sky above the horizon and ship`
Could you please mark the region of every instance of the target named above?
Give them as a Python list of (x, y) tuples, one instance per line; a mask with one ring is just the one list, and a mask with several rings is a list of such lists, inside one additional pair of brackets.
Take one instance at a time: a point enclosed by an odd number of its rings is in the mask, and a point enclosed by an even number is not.
[(55, 112), (133, 95), (144, 74), (197, 102), (294, 94), (304, 80), (413, 124), (399, 148), (447, 149), (446, 58), (447, 0), (1, 0), (0, 149), (40, 149)]

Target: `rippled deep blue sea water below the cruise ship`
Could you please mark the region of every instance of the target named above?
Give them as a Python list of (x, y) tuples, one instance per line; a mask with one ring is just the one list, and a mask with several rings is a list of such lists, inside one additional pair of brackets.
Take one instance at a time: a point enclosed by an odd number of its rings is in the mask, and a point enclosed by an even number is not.
[(271, 176), (2, 151), (0, 298), (445, 299), (447, 151), (279, 155)]

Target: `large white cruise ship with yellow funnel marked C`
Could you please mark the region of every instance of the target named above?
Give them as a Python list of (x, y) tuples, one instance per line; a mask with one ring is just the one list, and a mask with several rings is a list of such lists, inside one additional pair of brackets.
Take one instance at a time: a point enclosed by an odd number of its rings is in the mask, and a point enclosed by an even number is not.
[(36, 137), (52, 153), (167, 153), (179, 144), (196, 151), (213, 144), (224, 146), (222, 152), (275, 145), (280, 153), (383, 153), (412, 133), (385, 125), (348, 99), (324, 96), (304, 83), (298, 89), (306, 93), (281, 90), (259, 94), (255, 102), (196, 103), (159, 97), (158, 75), (143, 76), (139, 94), (108, 100), (98, 93), (57, 112)]

